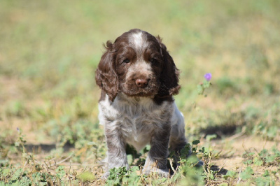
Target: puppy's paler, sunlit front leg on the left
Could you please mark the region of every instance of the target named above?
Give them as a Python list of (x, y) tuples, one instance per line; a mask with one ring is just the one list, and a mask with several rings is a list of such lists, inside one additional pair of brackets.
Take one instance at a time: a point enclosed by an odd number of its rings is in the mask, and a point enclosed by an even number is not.
[(105, 127), (106, 143), (108, 147), (108, 171), (104, 173), (104, 178), (109, 176), (109, 170), (114, 167), (127, 167), (127, 154), (125, 152), (125, 141), (120, 130), (110, 126)]

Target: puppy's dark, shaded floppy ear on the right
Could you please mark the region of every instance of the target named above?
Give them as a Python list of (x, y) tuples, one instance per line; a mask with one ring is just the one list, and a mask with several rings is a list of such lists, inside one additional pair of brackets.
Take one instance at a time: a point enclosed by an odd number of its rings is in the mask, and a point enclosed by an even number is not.
[(160, 36), (157, 37), (163, 57), (162, 73), (160, 74), (159, 96), (172, 96), (179, 93), (179, 70), (176, 68), (172, 57), (169, 55), (166, 46), (162, 43)]

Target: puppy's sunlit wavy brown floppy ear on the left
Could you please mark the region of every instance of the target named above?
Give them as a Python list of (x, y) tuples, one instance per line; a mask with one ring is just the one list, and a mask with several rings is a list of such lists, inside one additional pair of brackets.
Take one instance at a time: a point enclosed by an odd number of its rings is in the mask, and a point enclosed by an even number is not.
[(114, 65), (115, 57), (113, 55), (113, 44), (107, 41), (106, 52), (102, 55), (98, 68), (95, 71), (95, 81), (97, 85), (106, 92), (109, 99), (113, 101), (118, 94), (118, 76)]

